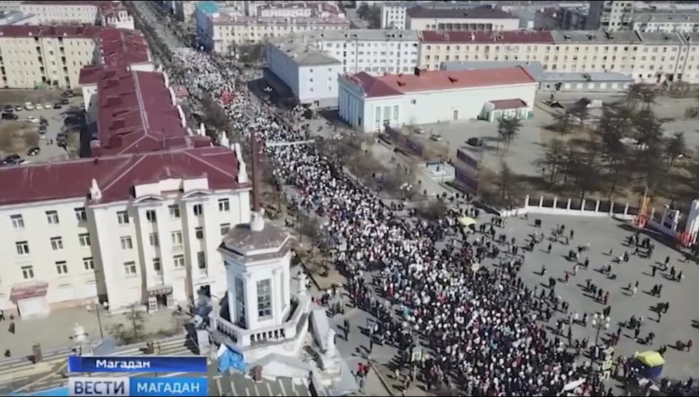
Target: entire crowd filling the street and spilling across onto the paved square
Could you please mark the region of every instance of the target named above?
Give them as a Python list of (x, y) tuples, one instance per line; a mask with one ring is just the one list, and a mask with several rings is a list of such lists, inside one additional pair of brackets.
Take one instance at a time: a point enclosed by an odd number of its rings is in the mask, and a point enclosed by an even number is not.
[[(241, 136), (254, 131), (263, 144), (307, 138), (294, 127), (300, 124), (301, 113), (291, 110), (281, 115), (281, 110), (259, 101), (243, 83), (248, 72), (234, 64), (177, 49), (173, 65), (171, 78), (212, 94)], [(589, 266), (602, 266), (590, 264), (591, 250), (604, 250), (610, 260), (600, 273), (615, 280), (616, 266), (634, 257), (652, 257), (654, 243), (643, 234), (629, 231), (626, 251), (613, 252), (585, 243), (584, 236), (566, 229), (565, 219), (555, 227), (531, 219), (538, 227), (531, 226), (526, 240), (517, 240), (507, 235), (507, 219), (482, 213), (465, 195), (454, 196), (449, 217), (426, 222), (403, 205), (384, 202), (358, 185), (336, 159), (314, 145), (274, 145), (264, 151), (274, 174), (296, 188), (291, 205), (322, 219), (324, 233), (338, 250), (336, 265), (347, 275), (344, 288), (352, 303), (377, 319), (367, 329), (368, 351), (376, 343), (401, 352), (397, 361), (406, 374), (403, 389), (416, 381), (428, 392), (458, 389), (467, 396), (651, 393), (651, 383), (641, 379), (633, 359), (610, 349), (622, 333), (633, 333), (639, 350), (654, 346), (664, 354), (667, 347), (653, 345), (658, 335), (647, 331), (649, 319), (632, 315), (621, 319), (622, 314), (614, 312), (612, 336), (576, 336), (576, 327), (605, 331), (612, 315), (610, 291), (582, 273)], [(465, 228), (456, 221), (462, 216), (474, 217), (479, 224)], [(542, 285), (523, 282), (520, 270), (533, 250), (550, 254), (563, 246), (567, 261), (553, 255), (551, 261), (563, 262), (568, 270), (537, 265)], [(492, 266), (482, 265), (486, 261)], [(682, 281), (682, 271), (675, 270), (669, 258), (658, 261), (663, 266), (654, 266), (654, 275), (656, 270), (668, 272), (675, 282)], [(600, 304), (598, 312), (570, 310), (560, 290), (561, 283), (571, 282), (583, 284), (583, 292)], [(619, 284), (627, 287), (629, 296), (639, 288), (633, 281)], [(658, 282), (651, 293), (662, 300), (662, 289)], [(331, 298), (322, 301), (332, 305)], [(668, 310), (670, 302), (661, 301), (658, 323)], [(549, 329), (552, 319), (557, 326)], [(618, 329), (617, 319), (624, 322)], [(347, 332), (350, 325), (345, 322)], [(678, 351), (691, 354), (691, 340), (679, 343)], [(366, 373), (366, 366), (358, 372)], [(624, 387), (617, 389), (615, 384)], [(693, 380), (663, 380), (656, 387), (677, 395), (687, 393)]]

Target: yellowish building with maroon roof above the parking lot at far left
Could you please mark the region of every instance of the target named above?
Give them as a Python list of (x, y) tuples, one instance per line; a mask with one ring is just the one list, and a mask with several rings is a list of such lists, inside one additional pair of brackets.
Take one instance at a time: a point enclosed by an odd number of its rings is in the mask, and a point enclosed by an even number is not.
[(150, 61), (143, 37), (136, 31), (107, 27), (0, 27), (2, 87), (41, 85), (78, 87), (80, 70), (123, 56)]

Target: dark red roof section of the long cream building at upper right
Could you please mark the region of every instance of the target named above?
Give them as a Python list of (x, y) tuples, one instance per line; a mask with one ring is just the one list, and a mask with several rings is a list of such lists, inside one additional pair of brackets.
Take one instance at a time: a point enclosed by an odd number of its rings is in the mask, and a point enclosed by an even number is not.
[(553, 43), (550, 31), (422, 31), (424, 43)]

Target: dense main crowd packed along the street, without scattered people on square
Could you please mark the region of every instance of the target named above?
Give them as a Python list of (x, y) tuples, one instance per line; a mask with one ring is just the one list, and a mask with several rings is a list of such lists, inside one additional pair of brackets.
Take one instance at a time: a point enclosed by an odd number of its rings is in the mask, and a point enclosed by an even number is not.
[[(259, 101), (233, 64), (188, 49), (175, 50), (173, 60), (179, 69), (173, 78), (210, 93), (243, 136), (254, 131), (263, 143), (305, 138), (289, 127), (298, 121), (298, 112), (280, 116)], [(552, 396), (582, 379), (580, 393), (612, 395), (601, 372), (580, 364), (589, 363), (580, 360), (588, 353), (600, 363), (605, 342), (596, 346), (589, 338), (572, 338), (570, 324), (580, 319), (555, 294), (555, 282), (548, 290), (530, 288), (518, 275), (526, 255), (519, 245), (531, 250), (542, 238), (517, 245), (496, 226), (502, 222), (466, 233), (449, 219), (408, 217), (348, 178), (314, 145), (264, 150), (275, 175), (296, 187), (294, 205), (322, 215), (324, 231), (343, 248), (337, 259), (349, 280), (345, 287), (356, 305), (377, 318), (370, 330), (372, 347), (375, 340), (401, 347), (405, 368), (413, 366), (417, 347), (430, 352), (415, 366), (428, 389), (451, 387), (469, 396)], [(484, 257), (496, 266), (480, 266)], [(570, 322), (549, 333), (545, 321), (554, 315)], [(622, 369), (633, 376), (620, 361), (617, 371)]]

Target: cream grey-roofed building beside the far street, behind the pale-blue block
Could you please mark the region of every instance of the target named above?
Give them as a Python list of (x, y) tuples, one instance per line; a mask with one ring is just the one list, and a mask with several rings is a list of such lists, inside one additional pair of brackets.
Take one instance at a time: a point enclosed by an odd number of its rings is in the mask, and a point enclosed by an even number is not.
[(212, 13), (206, 15), (206, 29), (203, 29), (203, 37), (199, 40), (206, 50), (231, 54), (240, 44), (263, 43), (269, 38), (310, 30), (337, 31), (348, 28), (349, 21), (344, 18), (261, 18)]

